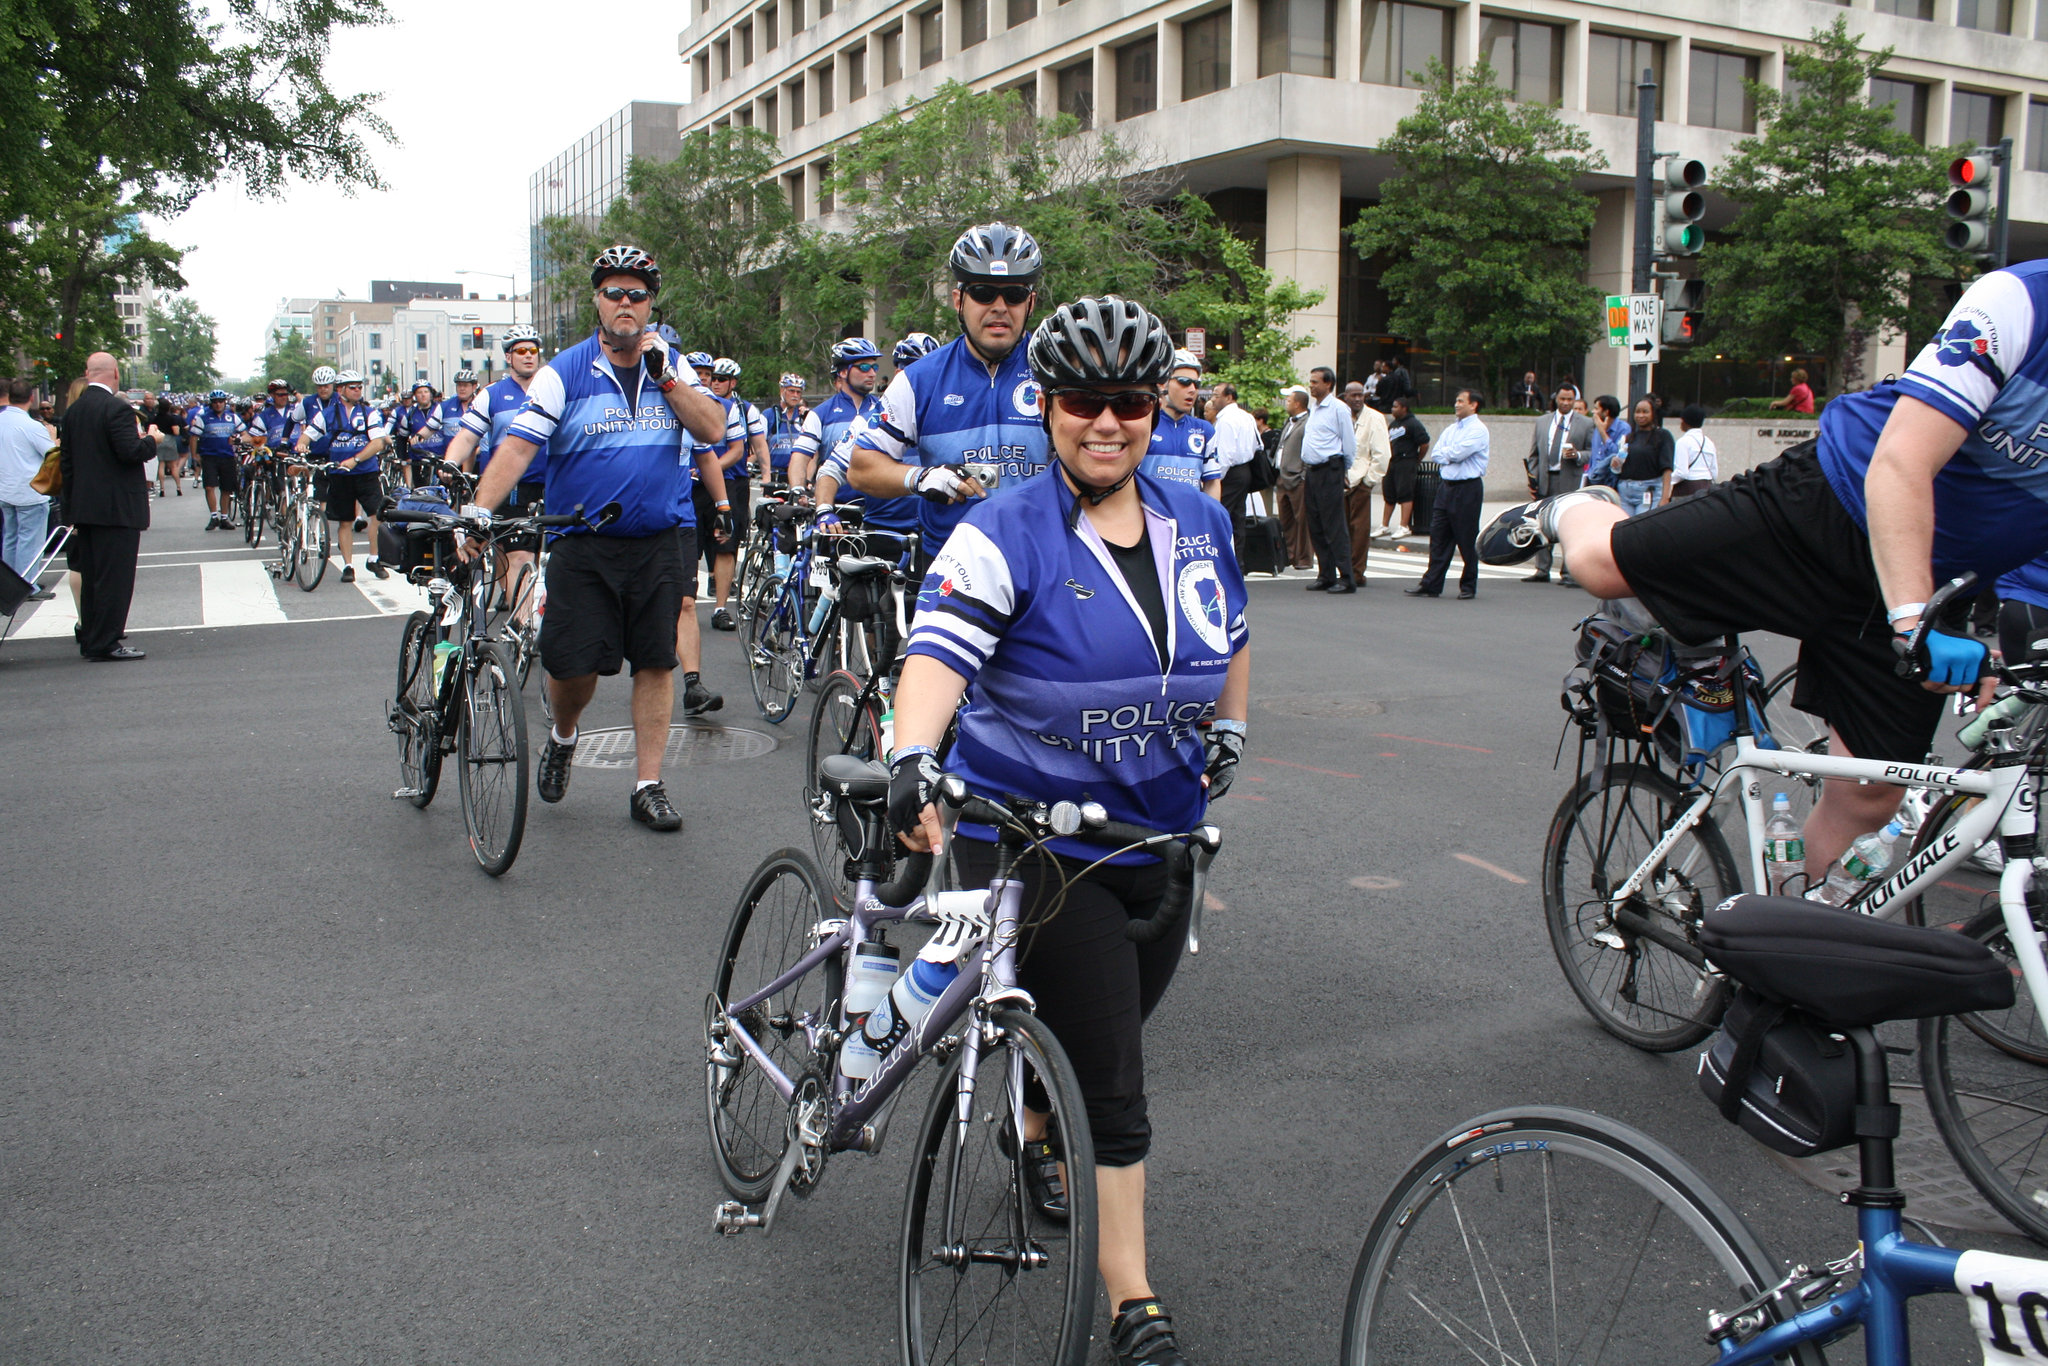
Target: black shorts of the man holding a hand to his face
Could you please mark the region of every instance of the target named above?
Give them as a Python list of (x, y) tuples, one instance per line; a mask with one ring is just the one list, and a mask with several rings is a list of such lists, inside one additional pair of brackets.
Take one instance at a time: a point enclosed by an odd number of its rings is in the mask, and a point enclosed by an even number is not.
[(651, 537), (559, 537), (547, 557), (541, 664), (549, 678), (676, 668), (676, 618), (696, 588), (696, 541), (684, 528)]

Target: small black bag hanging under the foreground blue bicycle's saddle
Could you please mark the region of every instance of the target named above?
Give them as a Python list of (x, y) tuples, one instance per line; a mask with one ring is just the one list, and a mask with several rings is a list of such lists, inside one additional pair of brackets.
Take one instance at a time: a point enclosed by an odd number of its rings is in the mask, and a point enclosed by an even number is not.
[(1700, 1053), (1720, 1118), (1788, 1157), (1855, 1143), (1855, 1055), (1827, 1026), (1741, 987)]

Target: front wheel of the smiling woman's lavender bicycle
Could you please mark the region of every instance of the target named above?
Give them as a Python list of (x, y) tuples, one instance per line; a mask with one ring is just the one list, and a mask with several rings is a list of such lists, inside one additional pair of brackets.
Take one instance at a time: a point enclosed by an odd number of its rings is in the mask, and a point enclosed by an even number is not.
[[(969, 1061), (975, 1063), (973, 1073), (967, 1071)], [(1018, 1159), (1022, 1118), (1014, 1110), (1024, 1094), (1024, 1073), (1038, 1077), (1065, 1145), (1063, 1225), (1026, 1206)], [(987, 1032), (971, 1026), (932, 1090), (918, 1135), (903, 1200), (897, 1317), (903, 1366), (963, 1360), (1081, 1366), (1096, 1317), (1096, 1151), (1081, 1083), (1053, 1030), (1024, 1010), (997, 1010)], [(969, 1237), (934, 1247), (948, 1210)], [(963, 1257), (1026, 1249), (1042, 1253), (1047, 1264), (1006, 1266)], [(965, 1266), (954, 1260), (965, 1260)], [(1014, 1313), (1008, 1323), (997, 1300), (1010, 1300)], [(1036, 1311), (1040, 1305), (1042, 1311)]]

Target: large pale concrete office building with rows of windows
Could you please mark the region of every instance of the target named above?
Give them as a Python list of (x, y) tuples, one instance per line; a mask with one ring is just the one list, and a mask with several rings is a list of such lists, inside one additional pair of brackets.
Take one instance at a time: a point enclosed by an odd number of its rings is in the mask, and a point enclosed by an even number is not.
[[(1413, 113), (1430, 57), (1487, 57), (1520, 98), (1552, 100), (1591, 135), (1599, 213), (1585, 279), (1626, 293), (1632, 248), (1634, 82), (1657, 72), (1657, 145), (1724, 162), (1755, 131), (1743, 80), (1784, 84), (1782, 49), (1835, 16), (1892, 47), (1874, 98), (1931, 145), (2015, 139), (2011, 246), (2048, 252), (2048, 0), (688, 0), (680, 33), (684, 131), (754, 125), (780, 139), (776, 168), (803, 217), (836, 143), (946, 80), (1016, 88), (1040, 113), (1114, 127), (1151, 168), (1251, 236), (1282, 276), (1325, 291), (1296, 317), (1303, 369), (1350, 379), (1389, 336), (1376, 266), (1343, 227), (1391, 162), (1372, 150)], [(1733, 207), (1710, 199), (1708, 225)], [(1874, 346), (1866, 373), (1905, 358)], [(1417, 377), (1427, 365), (1417, 365)], [(1624, 391), (1622, 352), (1595, 346), (1587, 379)]]

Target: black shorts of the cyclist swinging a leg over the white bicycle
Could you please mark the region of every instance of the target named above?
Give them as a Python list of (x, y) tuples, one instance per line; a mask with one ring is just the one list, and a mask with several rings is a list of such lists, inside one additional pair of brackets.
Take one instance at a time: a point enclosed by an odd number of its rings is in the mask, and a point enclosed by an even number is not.
[(1612, 547), (1642, 606), (1679, 641), (1790, 635), (1800, 643), (1794, 707), (1841, 731), (1858, 758), (1927, 758), (1942, 696), (1892, 672), (1870, 537), (1829, 487), (1815, 442), (1616, 522)]

